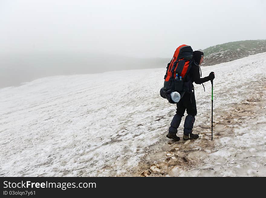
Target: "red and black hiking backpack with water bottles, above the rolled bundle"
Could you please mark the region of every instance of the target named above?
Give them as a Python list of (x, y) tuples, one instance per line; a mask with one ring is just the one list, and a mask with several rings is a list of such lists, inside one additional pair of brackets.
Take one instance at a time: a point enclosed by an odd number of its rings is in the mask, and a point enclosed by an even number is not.
[(188, 81), (188, 73), (193, 62), (193, 49), (188, 45), (180, 45), (172, 58), (167, 64), (167, 71), (164, 76), (164, 89), (177, 91), (179, 93), (185, 91), (183, 88), (184, 81)]

